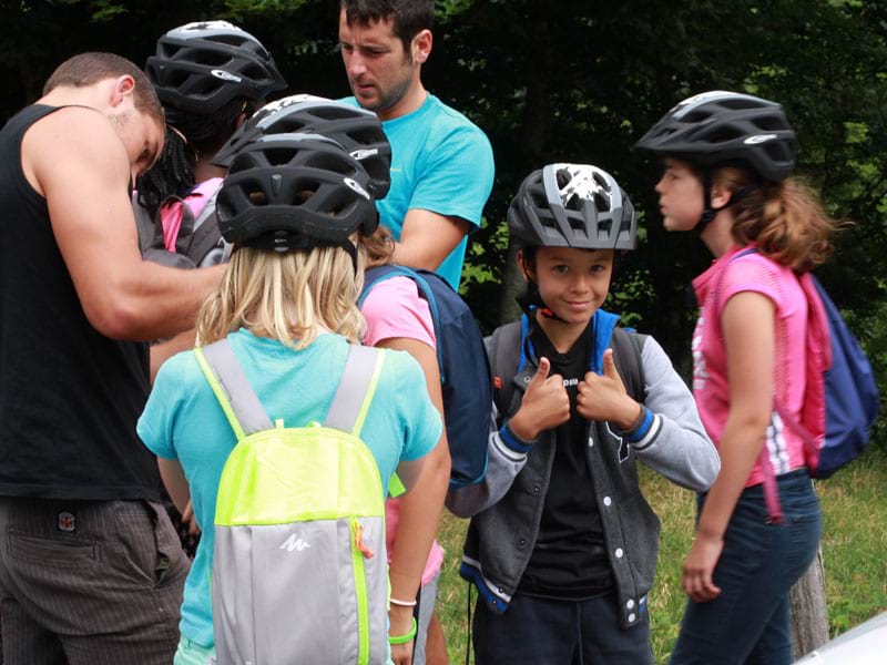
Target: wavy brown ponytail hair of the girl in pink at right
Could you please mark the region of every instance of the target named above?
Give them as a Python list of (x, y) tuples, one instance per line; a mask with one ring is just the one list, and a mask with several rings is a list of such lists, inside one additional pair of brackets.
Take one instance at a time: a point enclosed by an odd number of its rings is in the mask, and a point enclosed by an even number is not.
[(807, 273), (832, 255), (832, 236), (840, 224), (806, 185), (791, 177), (752, 184), (752, 174), (737, 166), (717, 168), (712, 180), (732, 192), (748, 187), (733, 205), (732, 235), (738, 245), (755, 242), (764, 255), (796, 273)]

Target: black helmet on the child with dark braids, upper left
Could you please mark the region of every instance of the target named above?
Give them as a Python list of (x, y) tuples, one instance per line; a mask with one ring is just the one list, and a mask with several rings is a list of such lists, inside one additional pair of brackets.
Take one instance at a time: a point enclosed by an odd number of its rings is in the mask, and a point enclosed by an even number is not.
[(210, 115), (236, 98), (262, 102), (286, 88), (262, 43), (227, 21), (187, 23), (157, 40), (145, 64), (163, 104)]

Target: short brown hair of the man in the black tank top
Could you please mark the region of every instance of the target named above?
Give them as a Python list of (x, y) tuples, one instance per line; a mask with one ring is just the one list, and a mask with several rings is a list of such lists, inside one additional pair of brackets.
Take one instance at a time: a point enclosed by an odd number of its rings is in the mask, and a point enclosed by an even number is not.
[(163, 125), (163, 108), (160, 105), (157, 93), (154, 92), (151, 81), (135, 64), (113, 53), (92, 51), (69, 58), (55, 68), (55, 71), (47, 80), (45, 85), (43, 85), (43, 94), (61, 85), (86, 88), (99, 81), (125, 74), (129, 74), (135, 81), (135, 88), (133, 89), (135, 109), (146, 113)]

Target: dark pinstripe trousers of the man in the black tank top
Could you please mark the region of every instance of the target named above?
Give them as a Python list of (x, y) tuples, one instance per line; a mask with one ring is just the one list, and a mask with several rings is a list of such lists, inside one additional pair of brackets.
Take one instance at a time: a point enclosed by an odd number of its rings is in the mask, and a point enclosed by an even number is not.
[(190, 563), (159, 503), (0, 498), (3, 665), (169, 665)]

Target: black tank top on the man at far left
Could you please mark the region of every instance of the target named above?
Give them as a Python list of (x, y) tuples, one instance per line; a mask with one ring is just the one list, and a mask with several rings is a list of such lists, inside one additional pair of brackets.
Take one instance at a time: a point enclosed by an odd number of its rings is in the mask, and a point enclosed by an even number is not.
[(21, 168), (22, 136), (55, 110), (28, 106), (0, 131), (0, 495), (156, 500), (135, 434), (147, 346), (89, 323)]

